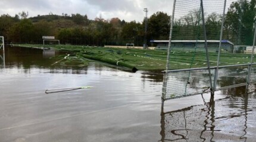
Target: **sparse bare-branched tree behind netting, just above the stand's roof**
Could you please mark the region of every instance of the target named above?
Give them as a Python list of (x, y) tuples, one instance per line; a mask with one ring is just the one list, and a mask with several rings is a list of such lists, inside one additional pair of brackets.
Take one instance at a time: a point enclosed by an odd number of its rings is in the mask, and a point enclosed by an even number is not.
[[(205, 28), (208, 40), (219, 40), (221, 29), (221, 15), (215, 12), (205, 14)], [(183, 17), (174, 21), (173, 40), (202, 40), (202, 12), (201, 9), (193, 9)]]

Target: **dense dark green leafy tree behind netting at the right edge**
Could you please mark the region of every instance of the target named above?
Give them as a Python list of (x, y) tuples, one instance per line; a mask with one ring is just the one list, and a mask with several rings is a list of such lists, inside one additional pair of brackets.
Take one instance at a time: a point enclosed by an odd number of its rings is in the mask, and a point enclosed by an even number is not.
[(239, 0), (232, 2), (227, 11), (225, 28), (231, 30), (232, 35), (226, 36), (236, 44), (252, 45), (256, 14), (255, 3), (254, 0), (251, 2)]

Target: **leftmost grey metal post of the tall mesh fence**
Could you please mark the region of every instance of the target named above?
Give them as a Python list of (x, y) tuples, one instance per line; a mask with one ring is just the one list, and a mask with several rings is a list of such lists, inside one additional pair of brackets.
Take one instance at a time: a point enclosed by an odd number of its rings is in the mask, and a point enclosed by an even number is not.
[(167, 61), (166, 61), (166, 73), (164, 75), (163, 80), (163, 92), (162, 92), (162, 99), (166, 100), (166, 88), (167, 88), (167, 81), (168, 81), (168, 69), (169, 69), (169, 58), (170, 58), (170, 51), (171, 51), (171, 35), (173, 33), (173, 23), (174, 23), (174, 12), (176, 7), (176, 0), (173, 2), (173, 14), (171, 15), (171, 27), (170, 27), (170, 35), (169, 35), (169, 43), (168, 43), (168, 51), (167, 51)]

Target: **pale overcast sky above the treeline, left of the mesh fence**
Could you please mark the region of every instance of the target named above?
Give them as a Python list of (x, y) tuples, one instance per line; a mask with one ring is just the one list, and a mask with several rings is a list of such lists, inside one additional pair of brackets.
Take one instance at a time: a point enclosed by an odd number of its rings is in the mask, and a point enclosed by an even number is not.
[(148, 8), (148, 17), (157, 11), (171, 15), (173, 0), (0, 0), (0, 15), (14, 16), (28, 11), (29, 17), (53, 14), (82, 14), (90, 20), (102, 16), (105, 20), (114, 17), (120, 20), (142, 22), (144, 8)]

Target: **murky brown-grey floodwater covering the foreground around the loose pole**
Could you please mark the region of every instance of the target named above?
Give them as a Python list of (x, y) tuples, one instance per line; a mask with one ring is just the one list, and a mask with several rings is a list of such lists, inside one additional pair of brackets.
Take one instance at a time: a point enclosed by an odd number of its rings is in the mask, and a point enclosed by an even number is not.
[[(164, 102), (161, 72), (62, 66), (60, 53), (0, 58), (0, 141), (255, 141), (255, 85)], [(3, 54), (1, 53), (1, 56)], [(4, 66), (5, 65), (5, 66)], [(46, 89), (92, 86), (76, 91)]]

